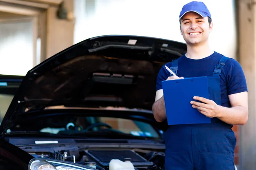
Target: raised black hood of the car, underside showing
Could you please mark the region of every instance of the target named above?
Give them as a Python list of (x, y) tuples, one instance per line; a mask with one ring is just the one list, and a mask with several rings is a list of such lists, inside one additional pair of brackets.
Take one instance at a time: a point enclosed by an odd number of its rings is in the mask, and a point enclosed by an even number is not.
[(151, 110), (160, 68), (185, 53), (184, 43), (151, 37), (110, 35), (79, 42), (28, 71), (0, 130), (18, 114), (49, 106)]

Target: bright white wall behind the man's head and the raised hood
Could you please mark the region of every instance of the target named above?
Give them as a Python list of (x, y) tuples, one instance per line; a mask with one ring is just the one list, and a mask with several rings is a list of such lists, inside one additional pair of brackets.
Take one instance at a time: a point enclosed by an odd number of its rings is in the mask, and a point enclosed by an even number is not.
[[(190, 1), (75, 0), (74, 43), (106, 34), (141, 35), (185, 42), (180, 35), (179, 14), (182, 6)], [(236, 58), (234, 0), (201, 1), (212, 15), (212, 49)]]

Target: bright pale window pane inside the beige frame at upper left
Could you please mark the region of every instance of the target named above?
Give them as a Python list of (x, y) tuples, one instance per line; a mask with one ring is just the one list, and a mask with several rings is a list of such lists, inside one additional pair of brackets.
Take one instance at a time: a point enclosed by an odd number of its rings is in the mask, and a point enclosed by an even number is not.
[(0, 74), (26, 75), (35, 66), (33, 19), (0, 19)]

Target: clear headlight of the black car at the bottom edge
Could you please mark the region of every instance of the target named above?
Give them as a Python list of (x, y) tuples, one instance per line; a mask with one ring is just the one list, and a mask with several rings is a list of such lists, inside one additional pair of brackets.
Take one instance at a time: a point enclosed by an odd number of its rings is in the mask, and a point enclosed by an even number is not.
[(82, 164), (53, 159), (32, 159), (28, 170), (96, 170)]

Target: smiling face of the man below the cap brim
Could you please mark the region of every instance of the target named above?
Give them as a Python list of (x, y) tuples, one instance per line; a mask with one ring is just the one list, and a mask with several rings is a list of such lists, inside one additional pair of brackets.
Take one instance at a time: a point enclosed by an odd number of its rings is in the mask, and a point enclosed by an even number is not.
[(208, 17), (188, 12), (180, 19), (180, 33), (188, 45), (199, 45), (208, 41), (212, 23)]

